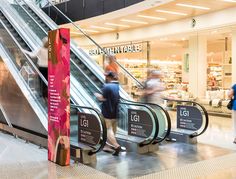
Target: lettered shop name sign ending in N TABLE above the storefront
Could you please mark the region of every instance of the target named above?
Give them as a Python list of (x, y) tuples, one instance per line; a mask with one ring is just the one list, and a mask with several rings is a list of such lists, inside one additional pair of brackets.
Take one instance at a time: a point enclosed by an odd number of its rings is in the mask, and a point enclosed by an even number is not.
[[(130, 44), (121, 45), (115, 47), (104, 47), (104, 51), (107, 54), (118, 54), (118, 53), (138, 53), (142, 52), (142, 44)], [(104, 52), (101, 49), (89, 50), (89, 55), (102, 55)]]

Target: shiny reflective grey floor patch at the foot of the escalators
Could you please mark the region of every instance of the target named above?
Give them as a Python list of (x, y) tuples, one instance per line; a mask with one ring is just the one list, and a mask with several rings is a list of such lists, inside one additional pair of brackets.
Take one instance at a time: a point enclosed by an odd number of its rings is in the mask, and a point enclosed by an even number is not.
[(232, 153), (231, 150), (205, 144), (166, 143), (155, 153), (123, 153), (120, 157), (101, 152), (95, 169), (117, 178), (133, 178)]

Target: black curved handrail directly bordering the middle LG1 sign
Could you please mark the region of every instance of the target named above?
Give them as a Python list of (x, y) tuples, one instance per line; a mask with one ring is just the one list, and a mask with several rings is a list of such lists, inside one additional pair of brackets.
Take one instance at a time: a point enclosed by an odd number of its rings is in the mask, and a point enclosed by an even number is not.
[(143, 146), (152, 144), (155, 141), (155, 139), (157, 138), (158, 132), (159, 132), (159, 122), (158, 122), (158, 118), (157, 118), (157, 115), (156, 115), (155, 111), (150, 106), (145, 105), (145, 104), (140, 104), (140, 103), (134, 104), (133, 102), (122, 102), (122, 101), (120, 101), (119, 104), (142, 106), (142, 107), (147, 108), (151, 112), (151, 114), (153, 116), (153, 119), (154, 119), (154, 123), (156, 125), (156, 128), (154, 128), (155, 132), (154, 132), (153, 138), (149, 141), (147, 139), (144, 139), (144, 141), (139, 143), (139, 146), (143, 147)]

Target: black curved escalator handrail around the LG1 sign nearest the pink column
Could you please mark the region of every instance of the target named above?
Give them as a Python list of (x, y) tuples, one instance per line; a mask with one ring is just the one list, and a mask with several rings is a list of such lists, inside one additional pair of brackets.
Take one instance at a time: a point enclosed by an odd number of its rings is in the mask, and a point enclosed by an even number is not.
[(94, 109), (94, 108), (91, 108), (91, 107), (79, 106), (79, 105), (75, 105), (75, 104), (71, 104), (70, 106), (72, 108), (82, 108), (82, 109), (93, 110), (98, 115), (99, 122), (102, 125), (102, 131), (103, 131), (103, 133), (102, 133), (102, 143), (101, 143), (101, 145), (98, 149), (96, 149), (95, 151), (90, 151), (88, 154), (93, 155), (93, 154), (96, 154), (97, 152), (101, 151), (103, 149), (103, 147), (106, 145), (106, 141), (107, 141), (107, 128), (106, 128), (106, 123), (105, 123), (104, 117), (101, 115), (101, 113), (97, 109)]

